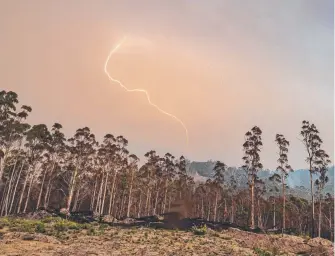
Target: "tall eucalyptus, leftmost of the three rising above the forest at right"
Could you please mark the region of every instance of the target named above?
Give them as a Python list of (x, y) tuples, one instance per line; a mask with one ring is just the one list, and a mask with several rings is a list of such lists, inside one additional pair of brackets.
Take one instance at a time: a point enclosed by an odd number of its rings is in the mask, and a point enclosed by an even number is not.
[(261, 151), (262, 144), (262, 131), (259, 127), (254, 126), (251, 131), (245, 134), (245, 142), (243, 144), (243, 169), (248, 174), (248, 185), (250, 188), (251, 196), (251, 228), (255, 228), (255, 180), (257, 178), (257, 172), (263, 168), (260, 162), (259, 152)]

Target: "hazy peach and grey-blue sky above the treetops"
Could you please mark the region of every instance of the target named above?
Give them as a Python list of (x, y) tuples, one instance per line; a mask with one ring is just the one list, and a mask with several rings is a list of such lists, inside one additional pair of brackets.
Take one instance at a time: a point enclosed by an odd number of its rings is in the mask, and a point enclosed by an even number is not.
[[(332, 0), (2, 0), (0, 88), (33, 108), (32, 124), (59, 122), (123, 135), (142, 161), (155, 149), (193, 161), (242, 165), (244, 134), (262, 131), (275, 169), (277, 133), (305, 168), (303, 120), (334, 161)], [(181, 119), (183, 127), (150, 106)]]

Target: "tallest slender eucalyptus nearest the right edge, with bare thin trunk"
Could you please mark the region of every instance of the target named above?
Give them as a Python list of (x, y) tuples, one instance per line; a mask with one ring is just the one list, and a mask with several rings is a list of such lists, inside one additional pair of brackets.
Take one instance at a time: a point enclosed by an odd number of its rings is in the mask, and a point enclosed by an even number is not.
[(311, 124), (309, 121), (302, 121), (302, 127), (300, 135), (302, 137), (302, 143), (305, 146), (307, 151), (306, 162), (308, 163), (309, 175), (310, 175), (310, 188), (311, 188), (311, 197), (312, 197), (312, 229), (311, 236), (314, 236), (315, 228), (315, 207), (314, 207), (314, 182), (313, 174), (320, 174), (320, 159), (327, 158), (326, 152), (321, 148), (322, 139), (319, 136), (320, 132), (314, 124)]

